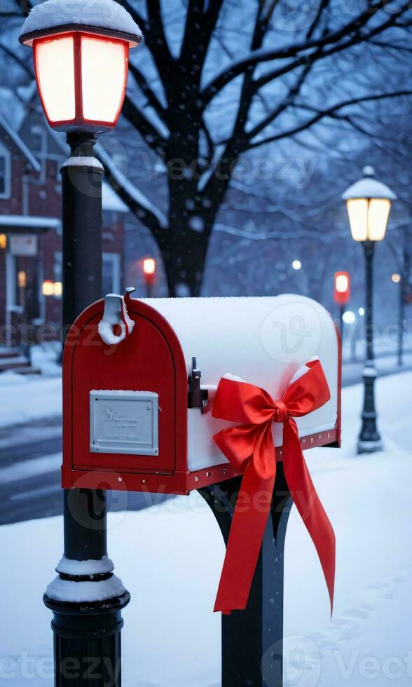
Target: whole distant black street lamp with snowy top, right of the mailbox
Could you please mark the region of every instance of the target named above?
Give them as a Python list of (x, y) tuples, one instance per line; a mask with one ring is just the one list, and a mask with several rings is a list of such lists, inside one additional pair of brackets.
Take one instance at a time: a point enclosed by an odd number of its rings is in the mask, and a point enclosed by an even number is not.
[(364, 367), (364, 409), (362, 428), (357, 445), (358, 453), (372, 453), (382, 449), (376, 426), (375, 379), (373, 362), (373, 253), (375, 243), (385, 238), (391, 201), (396, 198), (389, 186), (378, 182), (375, 170), (366, 166), (364, 177), (352, 184), (345, 193), (352, 238), (364, 247), (366, 267), (366, 365)]

